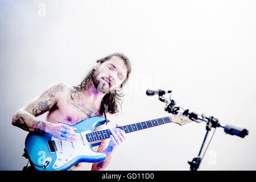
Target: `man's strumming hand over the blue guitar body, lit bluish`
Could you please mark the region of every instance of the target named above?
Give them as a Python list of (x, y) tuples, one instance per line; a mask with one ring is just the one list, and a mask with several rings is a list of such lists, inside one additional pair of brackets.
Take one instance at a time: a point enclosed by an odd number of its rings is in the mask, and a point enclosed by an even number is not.
[(46, 133), (57, 139), (73, 142), (79, 138), (79, 134), (75, 133), (75, 131), (75, 127), (71, 127), (63, 123), (48, 123)]

